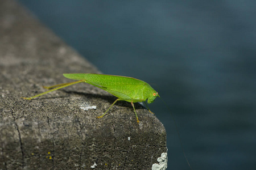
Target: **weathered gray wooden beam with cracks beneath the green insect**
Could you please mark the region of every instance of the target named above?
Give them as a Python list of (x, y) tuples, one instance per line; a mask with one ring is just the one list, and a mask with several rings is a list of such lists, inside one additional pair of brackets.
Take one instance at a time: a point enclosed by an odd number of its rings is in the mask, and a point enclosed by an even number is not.
[(139, 104), (139, 125), (126, 101), (96, 118), (116, 97), (90, 84), (21, 99), (100, 71), (12, 0), (0, 1), (0, 71), (0, 169), (151, 169), (166, 152), (163, 124)]

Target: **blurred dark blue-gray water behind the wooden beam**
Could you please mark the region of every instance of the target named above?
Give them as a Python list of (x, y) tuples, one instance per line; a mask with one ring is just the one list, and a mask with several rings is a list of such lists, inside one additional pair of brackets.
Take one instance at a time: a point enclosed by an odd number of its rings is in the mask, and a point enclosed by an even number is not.
[[(256, 169), (256, 1), (20, 2), (103, 73), (153, 84), (193, 169)], [(170, 113), (149, 107), (168, 169), (189, 169)]]

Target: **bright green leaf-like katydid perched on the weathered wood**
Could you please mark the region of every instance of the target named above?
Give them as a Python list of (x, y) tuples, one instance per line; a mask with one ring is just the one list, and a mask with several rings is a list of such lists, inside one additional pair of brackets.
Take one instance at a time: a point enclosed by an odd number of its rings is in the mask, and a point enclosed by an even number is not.
[[(105, 114), (109, 111), (110, 108), (112, 108), (112, 106), (117, 101), (124, 100), (124, 101), (130, 102), (131, 105), (133, 106), (134, 113), (137, 118), (137, 122), (139, 123), (139, 118), (134, 108), (134, 103), (144, 101), (144, 103), (146, 104), (145, 101), (147, 100), (147, 103), (150, 104), (154, 102), (156, 97), (160, 97), (158, 95), (158, 92), (156, 92), (148, 83), (143, 82), (142, 80), (127, 77), (127, 76), (90, 74), (90, 73), (63, 74), (63, 75), (68, 79), (73, 79), (78, 81), (44, 87), (51, 90), (43, 92), (42, 94), (39, 94), (39, 95), (32, 96), (32, 97), (22, 97), (22, 98), (31, 100), (35, 97), (47, 94), (48, 92), (52, 92), (60, 88), (71, 86), (76, 83), (85, 82), (85, 83), (92, 84), (93, 86), (96, 86), (98, 88), (101, 88), (102, 90), (105, 90), (110, 94), (118, 97), (118, 99), (115, 100), (114, 103), (101, 116), (98, 116), (97, 118), (101, 118), (105, 116)], [(146, 107), (147, 107), (147, 104), (146, 104)], [(148, 109), (148, 111), (152, 113), (150, 109)]]

